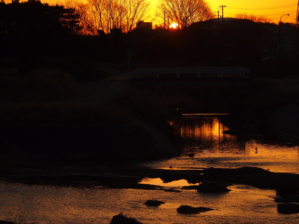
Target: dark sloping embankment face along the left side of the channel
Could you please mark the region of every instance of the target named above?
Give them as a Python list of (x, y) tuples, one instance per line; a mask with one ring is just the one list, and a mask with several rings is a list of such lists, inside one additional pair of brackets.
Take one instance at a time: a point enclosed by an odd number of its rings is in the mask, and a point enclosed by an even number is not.
[(118, 125), (1, 126), (3, 153), (34, 163), (113, 164), (178, 156), (171, 142), (142, 121)]

